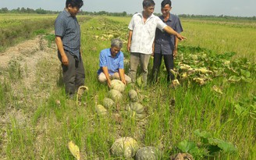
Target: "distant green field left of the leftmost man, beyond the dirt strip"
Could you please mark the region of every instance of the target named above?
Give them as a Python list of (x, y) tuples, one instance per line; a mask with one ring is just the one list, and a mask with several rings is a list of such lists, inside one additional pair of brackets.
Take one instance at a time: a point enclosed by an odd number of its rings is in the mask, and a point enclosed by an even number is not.
[[(0, 52), (38, 34), (52, 31), (57, 15), (0, 14)], [(81, 17), (81, 22), (85, 17)]]

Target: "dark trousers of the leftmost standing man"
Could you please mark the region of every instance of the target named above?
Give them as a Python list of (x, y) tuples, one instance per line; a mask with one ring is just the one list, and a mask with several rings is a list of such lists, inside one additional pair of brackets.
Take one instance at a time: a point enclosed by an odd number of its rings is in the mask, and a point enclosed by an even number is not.
[[(75, 94), (80, 86), (84, 85), (85, 73), (84, 63), (80, 58), (66, 52), (69, 59), (69, 66), (62, 65), (63, 81), (66, 87), (66, 94)], [(59, 56), (59, 60), (61, 60)]]

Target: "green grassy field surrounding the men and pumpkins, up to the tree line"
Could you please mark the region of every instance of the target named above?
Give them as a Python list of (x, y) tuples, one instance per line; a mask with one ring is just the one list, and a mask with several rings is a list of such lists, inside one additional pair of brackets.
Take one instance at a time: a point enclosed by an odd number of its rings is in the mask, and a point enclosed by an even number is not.
[[(113, 37), (126, 42), (129, 21), (130, 17), (93, 16), (80, 23), (89, 91), (79, 104), (65, 96), (58, 59), (37, 63), (31, 88), (25, 85), (22, 61), (13, 59), (1, 68), (3, 159), (73, 159), (69, 140), (80, 148), (83, 159), (125, 159), (114, 158), (109, 151), (119, 137), (133, 137), (140, 147), (158, 148), (162, 159), (179, 152), (189, 152), (195, 159), (256, 158), (255, 28), (244, 23), (237, 24), (242, 28), (233, 27), (236, 22), (182, 20), (188, 39), (180, 42), (176, 59), (181, 85), (170, 88), (162, 66), (158, 84), (149, 84), (148, 89), (128, 85), (123, 101), (116, 103), (119, 109), (108, 108), (107, 116), (98, 116), (95, 106), (108, 96), (108, 87), (97, 81), (99, 52), (110, 47)], [(126, 47), (123, 52), (129, 59)], [(188, 73), (185, 64), (194, 73)], [(151, 67), (152, 59), (150, 71)], [(132, 88), (144, 105), (144, 119), (126, 114)]]

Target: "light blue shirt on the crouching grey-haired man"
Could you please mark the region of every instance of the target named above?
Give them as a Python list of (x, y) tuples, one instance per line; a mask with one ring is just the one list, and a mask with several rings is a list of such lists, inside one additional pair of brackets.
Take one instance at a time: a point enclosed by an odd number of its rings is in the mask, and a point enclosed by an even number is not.
[(119, 69), (123, 69), (123, 52), (118, 52), (115, 57), (112, 57), (110, 48), (103, 49), (100, 53), (100, 69), (98, 74), (103, 72), (102, 67), (108, 67), (108, 73), (113, 75), (118, 73)]

